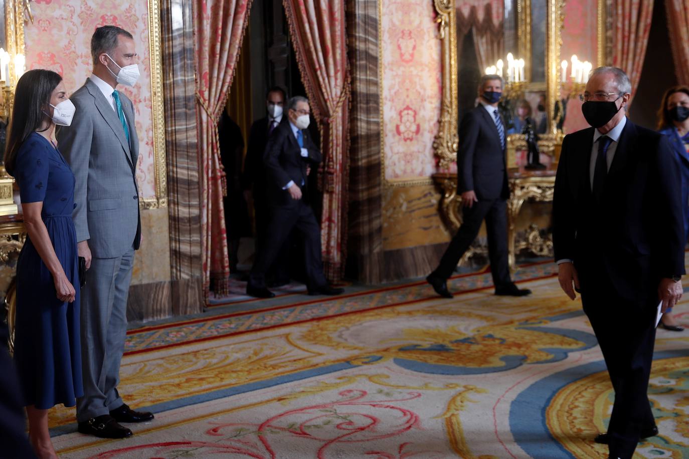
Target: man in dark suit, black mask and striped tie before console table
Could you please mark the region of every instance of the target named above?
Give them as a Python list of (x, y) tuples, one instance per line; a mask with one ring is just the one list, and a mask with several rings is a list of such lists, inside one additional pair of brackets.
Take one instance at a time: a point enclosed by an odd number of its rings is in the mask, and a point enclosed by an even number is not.
[(495, 295), (523, 296), (531, 290), (517, 288), (510, 278), (507, 261), (507, 169), (505, 128), (497, 109), (502, 96), (502, 78), (484, 75), (478, 87), (480, 105), (460, 124), (457, 151), (457, 193), (462, 194), (462, 226), (445, 250), (440, 265), (426, 277), (441, 297), (452, 298), (447, 279), (486, 220), (488, 250)]

